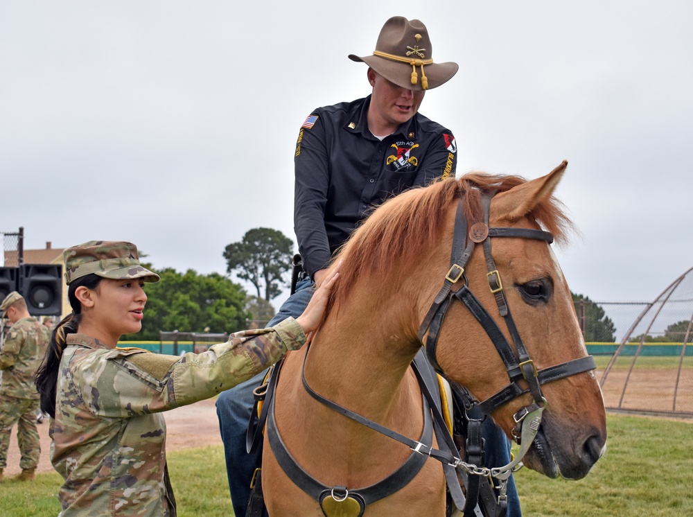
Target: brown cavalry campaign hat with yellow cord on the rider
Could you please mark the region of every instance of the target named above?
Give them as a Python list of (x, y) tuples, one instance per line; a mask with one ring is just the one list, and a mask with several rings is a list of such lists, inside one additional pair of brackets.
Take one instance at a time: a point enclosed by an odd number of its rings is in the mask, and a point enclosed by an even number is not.
[(395, 16), (385, 22), (372, 55), (349, 54), (352, 61), (366, 63), (385, 79), (410, 90), (439, 87), (450, 80), (457, 63), (434, 63), (431, 40), (419, 20)]

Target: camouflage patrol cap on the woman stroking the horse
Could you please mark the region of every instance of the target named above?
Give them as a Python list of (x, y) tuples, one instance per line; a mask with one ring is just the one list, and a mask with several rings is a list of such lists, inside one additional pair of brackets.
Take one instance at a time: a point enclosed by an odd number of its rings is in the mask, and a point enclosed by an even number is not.
[(65, 283), (94, 273), (99, 277), (123, 280), (141, 278), (158, 282), (159, 275), (139, 263), (137, 246), (115, 240), (89, 240), (62, 252), (65, 261)]

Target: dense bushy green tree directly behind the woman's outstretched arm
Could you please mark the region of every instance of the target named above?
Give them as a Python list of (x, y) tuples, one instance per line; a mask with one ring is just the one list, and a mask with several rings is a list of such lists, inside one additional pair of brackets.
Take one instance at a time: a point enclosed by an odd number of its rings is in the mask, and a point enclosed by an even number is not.
[(232, 333), (245, 328), (245, 290), (218, 273), (179, 273), (172, 268), (155, 270), (158, 283), (147, 283), (147, 305), (142, 330), (124, 339), (158, 341), (159, 331)]

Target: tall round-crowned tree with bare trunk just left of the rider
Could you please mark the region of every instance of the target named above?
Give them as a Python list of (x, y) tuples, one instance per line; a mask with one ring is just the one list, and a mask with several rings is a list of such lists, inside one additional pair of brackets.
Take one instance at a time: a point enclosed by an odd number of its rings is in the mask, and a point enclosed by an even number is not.
[(227, 273), (236, 272), (240, 279), (252, 283), (261, 297), (264, 283), (265, 300), (281, 294), (288, 286), (285, 274), (291, 268), (294, 243), (281, 231), (271, 228), (248, 230), (239, 243), (231, 243), (224, 250)]

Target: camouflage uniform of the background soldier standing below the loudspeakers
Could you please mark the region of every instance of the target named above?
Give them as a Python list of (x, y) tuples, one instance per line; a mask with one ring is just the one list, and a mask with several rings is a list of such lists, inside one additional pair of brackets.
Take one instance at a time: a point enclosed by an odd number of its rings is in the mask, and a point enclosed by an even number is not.
[(41, 446), (36, 430), (39, 394), (33, 376), (48, 347), (51, 334), (35, 317), (19, 319), (0, 351), (0, 469), (7, 466), (12, 426), (17, 424), (17, 444), (22, 470), (35, 468)]

